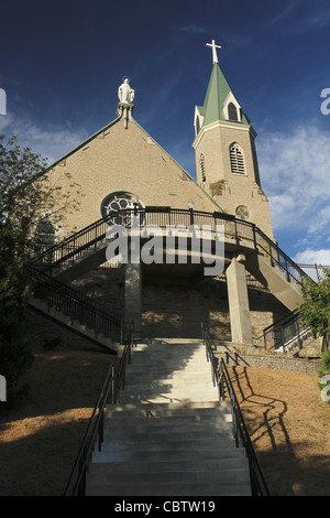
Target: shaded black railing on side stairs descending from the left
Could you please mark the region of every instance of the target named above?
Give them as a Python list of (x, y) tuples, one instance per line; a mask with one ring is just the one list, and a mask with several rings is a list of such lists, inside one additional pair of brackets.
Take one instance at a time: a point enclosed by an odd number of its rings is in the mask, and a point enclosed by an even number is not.
[(30, 268), (34, 298), (51, 309), (67, 316), (72, 323), (79, 322), (92, 330), (95, 337), (101, 334), (106, 338), (122, 341), (122, 315), (73, 287), (53, 279), (47, 273)]

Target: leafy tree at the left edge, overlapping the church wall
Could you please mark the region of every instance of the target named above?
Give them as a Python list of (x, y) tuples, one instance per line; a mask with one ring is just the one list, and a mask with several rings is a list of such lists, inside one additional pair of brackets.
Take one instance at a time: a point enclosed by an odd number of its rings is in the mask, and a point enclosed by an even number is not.
[(45, 158), (22, 149), (16, 137), (6, 142), (0, 136), (0, 374), (8, 392), (33, 361), (24, 324), (33, 284), (29, 261), (41, 245), (37, 228), (59, 226), (68, 207), (76, 208), (77, 193), (53, 182)]

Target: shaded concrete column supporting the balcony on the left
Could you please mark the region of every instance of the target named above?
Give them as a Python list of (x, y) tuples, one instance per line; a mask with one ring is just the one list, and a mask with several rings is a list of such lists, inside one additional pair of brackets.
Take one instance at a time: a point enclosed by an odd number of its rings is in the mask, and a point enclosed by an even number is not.
[(127, 326), (134, 322), (134, 331), (138, 337), (142, 331), (142, 266), (141, 263), (125, 265), (125, 306), (124, 324)]

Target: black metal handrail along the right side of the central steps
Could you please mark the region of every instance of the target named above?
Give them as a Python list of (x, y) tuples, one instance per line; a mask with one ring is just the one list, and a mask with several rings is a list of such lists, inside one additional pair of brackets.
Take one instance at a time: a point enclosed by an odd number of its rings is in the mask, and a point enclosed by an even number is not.
[(261, 465), (257, 461), (248, 428), (233, 389), (226, 363), (215, 356), (210, 336), (205, 323), (201, 323), (202, 339), (207, 349), (207, 358), (212, 365), (213, 381), (219, 389), (219, 399), (229, 399), (232, 410), (232, 433), (237, 447), (242, 445), (245, 449), (249, 460), (251, 493), (252, 496), (270, 496), (270, 489), (265, 482)]

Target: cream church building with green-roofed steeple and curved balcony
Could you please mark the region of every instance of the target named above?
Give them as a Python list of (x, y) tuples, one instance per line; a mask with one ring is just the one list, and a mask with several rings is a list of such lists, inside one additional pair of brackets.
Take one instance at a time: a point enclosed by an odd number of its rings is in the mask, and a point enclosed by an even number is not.
[[(219, 67), (215, 41), (209, 46), (212, 68), (205, 100), (195, 115), (191, 107), (197, 180), (135, 120), (135, 93), (125, 78), (116, 119), (50, 166), (54, 182), (64, 188), (74, 183), (82, 194), (79, 208), (65, 215), (57, 231), (64, 244), (54, 247), (50, 272), (127, 324), (133, 321), (143, 338), (199, 338), (205, 321), (213, 338), (252, 345), (301, 298), (296, 266), (274, 241), (256, 132)], [(111, 240), (105, 235), (122, 225), (132, 253), (132, 216), (141, 247), (147, 242), (146, 227), (168, 233), (174, 225), (182, 237), (186, 233), (185, 257), (173, 241), (172, 259), (164, 260), (164, 241), (162, 260), (109, 263)], [(217, 239), (223, 244), (220, 272), (205, 274), (206, 260), (196, 260), (191, 225), (210, 227), (211, 256)]]

